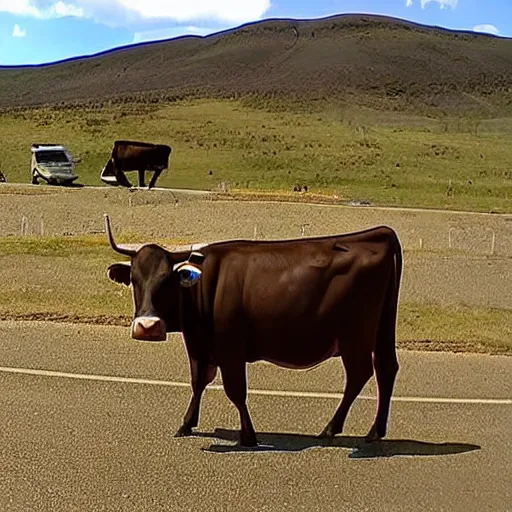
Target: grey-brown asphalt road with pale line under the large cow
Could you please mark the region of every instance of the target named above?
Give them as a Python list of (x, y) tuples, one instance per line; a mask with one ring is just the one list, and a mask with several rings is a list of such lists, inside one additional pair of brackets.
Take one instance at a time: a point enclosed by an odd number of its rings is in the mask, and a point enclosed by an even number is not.
[[(262, 446), (214, 382), (199, 435), (182, 342), (127, 329), (0, 322), (1, 511), (512, 511), (512, 358), (401, 352), (388, 439), (361, 448), (373, 381), (332, 446), (338, 361), (249, 370)], [(359, 448), (359, 449), (358, 449)]]

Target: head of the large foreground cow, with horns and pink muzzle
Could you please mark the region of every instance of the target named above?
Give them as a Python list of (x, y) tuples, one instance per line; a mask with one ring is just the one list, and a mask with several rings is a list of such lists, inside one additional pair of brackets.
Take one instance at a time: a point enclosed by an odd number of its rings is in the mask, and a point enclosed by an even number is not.
[(110, 265), (108, 277), (133, 287), (132, 338), (165, 341), (168, 332), (181, 331), (180, 289), (199, 282), (205, 256), (197, 251), (173, 252), (156, 244), (121, 246), (114, 241), (108, 215), (105, 225), (112, 249), (131, 258), (130, 263)]

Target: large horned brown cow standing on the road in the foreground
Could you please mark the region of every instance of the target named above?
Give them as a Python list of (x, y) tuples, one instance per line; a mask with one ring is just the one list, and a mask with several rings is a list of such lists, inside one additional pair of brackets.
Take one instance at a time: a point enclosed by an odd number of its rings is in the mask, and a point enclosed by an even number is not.
[(282, 241), (226, 241), (167, 250), (147, 244), (111, 247), (131, 263), (108, 268), (133, 286), (136, 340), (164, 341), (181, 332), (193, 396), (178, 436), (199, 421), (205, 387), (220, 368), (224, 390), (240, 413), (240, 443), (257, 444), (246, 406), (246, 364), (268, 361), (312, 368), (341, 357), (346, 386), (321, 436), (342, 432), (355, 398), (373, 375), (375, 422), (366, 439), (386, 435), (398, 361), (395, 329), (402, 274), (400, 241), (389, 227)]

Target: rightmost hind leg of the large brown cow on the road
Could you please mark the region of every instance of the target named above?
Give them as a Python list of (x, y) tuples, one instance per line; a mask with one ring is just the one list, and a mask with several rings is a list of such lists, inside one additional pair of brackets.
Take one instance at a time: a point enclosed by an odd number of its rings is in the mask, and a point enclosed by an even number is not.
[(376, 441), (386, 436), (391, 395), (398, 373), (398, 359), (394, 346), (384, 347), (383, 352), (380, 353), (376, 350), (374, 355), (375, 380), (378, 391), (377, 416), (366, 436), (367, 442)]

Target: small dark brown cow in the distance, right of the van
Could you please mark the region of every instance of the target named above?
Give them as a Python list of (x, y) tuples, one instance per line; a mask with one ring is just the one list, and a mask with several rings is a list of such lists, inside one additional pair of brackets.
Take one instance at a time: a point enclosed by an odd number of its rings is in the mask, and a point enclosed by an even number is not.
[(110, 159), (101, 172), (101, 180), (108, 185), (121, 185), (130, 188), (125, 172), (138, 171), (139, 186), (145, 187), (145, 171), (154, 171), (148, 190), (155, 186), (160, 174), (169, 166), (171, 147), (164, 144), (117, 140)]

